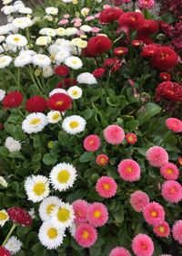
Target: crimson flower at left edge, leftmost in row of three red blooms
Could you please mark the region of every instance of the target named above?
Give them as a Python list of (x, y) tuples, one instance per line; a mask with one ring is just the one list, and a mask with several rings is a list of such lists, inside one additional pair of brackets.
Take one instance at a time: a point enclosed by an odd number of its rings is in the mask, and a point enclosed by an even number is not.
[(24, 96), (21, 92), (14, 91), (10, 92), (3, 99), (4, 107), (6, 108), (15, 108), (18, 107), (22, 101), (24, 100)]

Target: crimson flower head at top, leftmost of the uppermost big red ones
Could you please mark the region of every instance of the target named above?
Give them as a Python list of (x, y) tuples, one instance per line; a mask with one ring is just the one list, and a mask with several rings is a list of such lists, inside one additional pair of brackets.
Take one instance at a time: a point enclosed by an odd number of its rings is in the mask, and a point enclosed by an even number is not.
[(101, 24), (114, 22), (115, 20), (118, 20), (118, 18), (123, 14), (124, 12), (119, 8), (107, 8), (106, 10), (101, 12), (99, 16), (99, 22)]

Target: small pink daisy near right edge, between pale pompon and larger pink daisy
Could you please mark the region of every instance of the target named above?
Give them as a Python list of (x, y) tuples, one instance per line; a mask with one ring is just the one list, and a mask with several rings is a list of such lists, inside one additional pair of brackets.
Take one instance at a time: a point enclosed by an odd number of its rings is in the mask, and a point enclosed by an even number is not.
[(160, 173), (166, 179), (177, 179), (177, 177), (179, 176), (177, 166), (172, 163), (162, 165), (162, 167), (160, 168)]

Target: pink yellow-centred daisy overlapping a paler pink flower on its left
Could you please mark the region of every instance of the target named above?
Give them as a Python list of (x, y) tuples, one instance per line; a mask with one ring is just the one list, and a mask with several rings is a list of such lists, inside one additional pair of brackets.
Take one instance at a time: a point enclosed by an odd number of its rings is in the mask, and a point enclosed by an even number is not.
[(106, 224), (108, 211), (105, 205), (95, 202), (87, 208), (87, 220), (94, 227), (101, 227)]

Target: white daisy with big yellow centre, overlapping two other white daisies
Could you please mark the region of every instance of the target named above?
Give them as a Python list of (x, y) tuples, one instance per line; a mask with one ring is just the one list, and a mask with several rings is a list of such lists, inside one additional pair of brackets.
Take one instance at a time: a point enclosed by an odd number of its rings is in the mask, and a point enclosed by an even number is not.
[(75, 215), (72, 205), (68, 203), (60, 203), (58, 207), (55, 207), (50, 213), (51, 223), (57, 229), (66, 229), (74, 222)]

